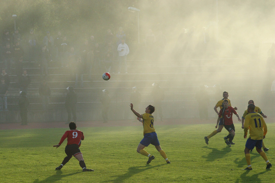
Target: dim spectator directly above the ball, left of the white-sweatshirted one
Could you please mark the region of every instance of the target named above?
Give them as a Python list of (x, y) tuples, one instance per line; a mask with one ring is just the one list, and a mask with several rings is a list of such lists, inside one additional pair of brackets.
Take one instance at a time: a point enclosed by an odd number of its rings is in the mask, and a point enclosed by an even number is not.
[(111, 71), (113, 62), (115, 60), (115, 56), (116, 56), (116, 48), (112, 45), (111, 42), (109, 42), (108, 45), (105, 47), (105, 52), (104, 52), (104, 64), (103, 65), (104, 65), (105, 72)]

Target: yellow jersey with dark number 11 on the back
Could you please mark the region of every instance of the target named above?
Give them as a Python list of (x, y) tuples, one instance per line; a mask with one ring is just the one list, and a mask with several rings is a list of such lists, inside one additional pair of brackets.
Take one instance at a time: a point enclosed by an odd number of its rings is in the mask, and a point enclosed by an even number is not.
[(262, 115), (259, 113), (249, 113), (244, 119), (244, 135), (247, 136), (249, 130), (249, 137), (253, 140), (262, 140), (266, 136), (267, 127)]

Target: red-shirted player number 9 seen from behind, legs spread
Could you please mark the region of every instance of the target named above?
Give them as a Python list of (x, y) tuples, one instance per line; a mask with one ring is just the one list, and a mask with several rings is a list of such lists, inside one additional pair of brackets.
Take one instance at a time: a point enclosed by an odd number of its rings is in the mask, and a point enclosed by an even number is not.
[(82, 171), (94, 171), (92, 169), (86, 168), (86, 164), (84, 163), (84, 159), (82, 153), (80, 152), (79, 146), (81, 145), (81, 140), (84, 140), (84, 135), (82, 131), (76, 130), (76, 124), (71, 122), (69, 124), (70, 130), (66, 131), (62, 136), (60, 142), (57, 145), (53, 145), (53, 147), (58, 148), (62, 142), (67, 138), (67, 146), (65, 147), (66, 157), (62, 161), (61, 165), (56, 167), (56, 170), (60, 170), (70, 159), (72, 156), (75, 156), (77, 160), (79, 160), (79, 165), (82, 168)]

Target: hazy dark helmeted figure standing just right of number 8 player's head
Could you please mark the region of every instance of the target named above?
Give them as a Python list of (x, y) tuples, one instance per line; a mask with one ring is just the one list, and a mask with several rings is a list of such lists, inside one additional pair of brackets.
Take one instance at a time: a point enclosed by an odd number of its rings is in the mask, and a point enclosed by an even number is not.
[(163, 114), (162, 114), (162, 101), (164, 99), (164, 92), (163, 89), (160, 88), (160, 85), (158, 83), (153, 83), (153, 90), (152, 90), (152, 99), (153, 99), (153, 105), (155, 106), (155, 119), (157, 119), (158, 115), (160, 117), (160, 120), (163, 121)]

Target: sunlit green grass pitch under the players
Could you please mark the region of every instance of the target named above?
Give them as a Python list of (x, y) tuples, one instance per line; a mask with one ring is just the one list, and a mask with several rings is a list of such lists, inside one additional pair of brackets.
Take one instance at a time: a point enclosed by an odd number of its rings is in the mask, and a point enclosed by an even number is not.
[[(274, 163), (274, 127), (267, 124), (264, 140), (270, 148), (267, 157)], [(167, 164), (153, 145), (145, 148), (156, 158), (146, 165), (147, 157), (138, 154), (136, 148), (143, 138), (142, 125), (138, 127), (86, 127), (85, 140), (80, 147), (87, 168), (94, 172), (82, 172), (78, 161), (72, 158), (62, 170), (55, 170), (66, 156), (67, 140), (59, 148), (53, 148), (67, 130), (28, 129), (2, 130), (0, 133), (0, 182), (273, 182), (275, 167), (266, 170), (262, 157), (254, 149), (251, 153), (253, 170), (247, 167), (244, 157), (243, 131), (236, 125), (236, 144), (229, 148), (223, 137), (225, 129), (212, 137), (209, 145), (204, 136), (215, 128), (214, 124), (155, 125), (162, 149), (171, 164)]]

